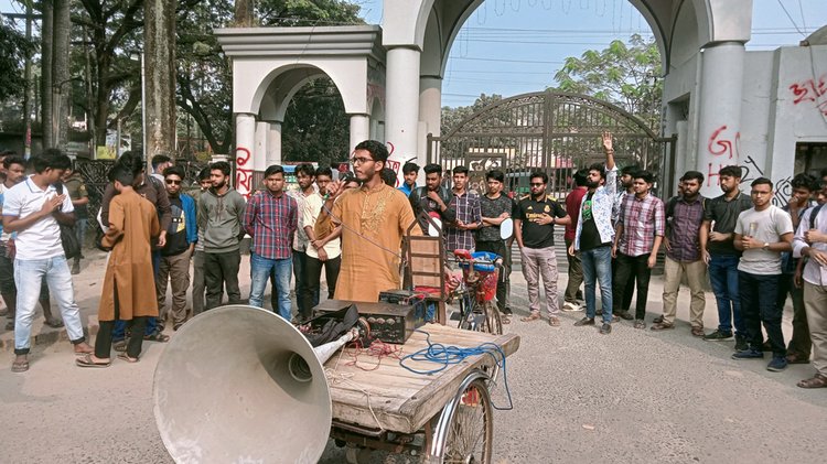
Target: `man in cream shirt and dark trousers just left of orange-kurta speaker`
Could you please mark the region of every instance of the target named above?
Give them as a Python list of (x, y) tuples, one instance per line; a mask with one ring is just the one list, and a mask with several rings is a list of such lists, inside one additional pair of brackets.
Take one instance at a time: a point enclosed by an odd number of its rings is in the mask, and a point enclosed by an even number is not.
[(319, 192), (310, 195), (304, 201), (302, 212), (302, 224), (304, 231), (308, 234), (308, 250), (304, 261), (304, 292), (298, 295), (307, 313), (299, 314), (299, 320), (304, 321), (311, 316), (311, 310), (319, 304), (319, 287), (322, 279), (322, 266), (324, 266), (324, 277), (327, 281), (327, 299), (333, 298), (336, 291), (336, 280), (339, 279), (339, 269), (342, 265), (342, 241), (339, 238), (342, 235), (342, 225), (326, 237), (316, 237), (313, 226), (319, 218), (319, 214), (324, 205), (324, 196), (327, 194), (327, 184), (333, 181), (333, 172), (330, 168), (321, 166), (315, 170), (315, 184)]

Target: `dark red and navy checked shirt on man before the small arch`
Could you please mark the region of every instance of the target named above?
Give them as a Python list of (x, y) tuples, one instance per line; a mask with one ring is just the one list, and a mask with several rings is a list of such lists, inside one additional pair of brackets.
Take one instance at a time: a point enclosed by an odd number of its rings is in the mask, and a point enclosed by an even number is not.
[(293, 236), (299, 222), (299, 205), (286, 193), (269, 191), (253, 195), (244, 214), (244, 228), (253, 237), (250, 250), (266, 259), (292, 257)]

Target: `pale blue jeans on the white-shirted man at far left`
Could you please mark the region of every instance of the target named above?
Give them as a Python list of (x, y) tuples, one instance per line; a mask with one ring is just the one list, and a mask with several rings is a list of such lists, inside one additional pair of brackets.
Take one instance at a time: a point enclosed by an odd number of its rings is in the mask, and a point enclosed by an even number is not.
[(69, 339), (75, 345), (85, 341), (80, 324), (80, 309), (75, 303), (75, 289), (66, 257), (15, 259), (14, 283), (18, 287), (18, 311), (14, 317), (14, 354), (17, 355), (29, 354), (34, 307), (37, 305), (41, 282), (44, 278), (61, 310)]

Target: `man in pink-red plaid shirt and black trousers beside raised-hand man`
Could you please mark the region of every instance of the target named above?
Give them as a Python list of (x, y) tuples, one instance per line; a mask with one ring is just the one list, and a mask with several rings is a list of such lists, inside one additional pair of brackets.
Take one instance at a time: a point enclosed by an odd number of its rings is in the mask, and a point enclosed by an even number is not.
[(623, 316), (621, 304), (626, 282), (634, 277), (637, 280), (634, 327), (646, 328), (643, 319), (646, 315), (649, 277), (664, 239), (664, 202), (649, 192), (655, 182), (652, 173), (637, 171), (632, 177), (634, 195), (623, 198), (612, 247), (612, 257), (617, 259), (616, 280), (612, 285), (612, 313)]

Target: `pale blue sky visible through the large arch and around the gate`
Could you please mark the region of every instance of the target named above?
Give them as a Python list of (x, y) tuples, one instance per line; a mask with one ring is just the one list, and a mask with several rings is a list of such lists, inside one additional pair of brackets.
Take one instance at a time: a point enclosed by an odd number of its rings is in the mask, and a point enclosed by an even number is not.
[[(368, 23), (382, 23), (383, 0), (352, 0)], [(0, 0), (0, 12), (20, 12)], [(748, 50), (796, 45), (827, 24), (827, 0), (753, 0)], [(627, 0), (486, 0), (451, 48), (442, 85), (444, 106), (466, 106), (481, 94), (513, 96), (554, 85), (569, 56), (602, 50), (633, 33), (652, 36)]]

